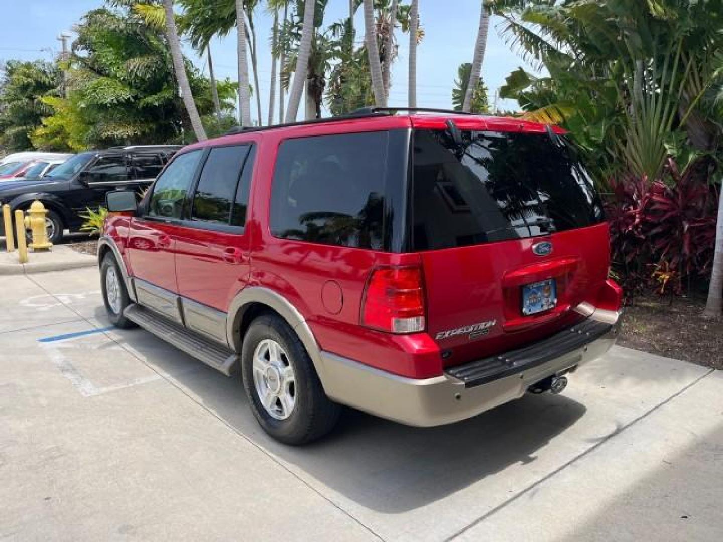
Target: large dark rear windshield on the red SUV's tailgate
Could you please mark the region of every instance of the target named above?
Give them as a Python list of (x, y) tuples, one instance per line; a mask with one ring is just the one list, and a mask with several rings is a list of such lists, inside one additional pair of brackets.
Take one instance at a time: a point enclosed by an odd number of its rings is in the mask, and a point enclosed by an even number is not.
[(583, 228), (604, 220), (591, 178), (547, 134), (414, 132), (412, 245), (450, 249)]

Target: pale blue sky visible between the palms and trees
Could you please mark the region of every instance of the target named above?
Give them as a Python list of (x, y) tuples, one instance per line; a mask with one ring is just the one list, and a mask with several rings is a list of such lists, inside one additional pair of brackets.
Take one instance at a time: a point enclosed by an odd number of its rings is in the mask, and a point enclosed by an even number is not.
[[(417, 52), (417, 103), (420, 107), (450, 108), (451, 87), (457, 76), (458, 66), (471, 62), (474, 40), (479, 25), (479, 0), (420, 0), (420, 15), (424, 27), (424, 40)], [(0, 59), (51, 59), (60, 49), (56, 36), (64, 30), (72, 30), (82, 14), (100, 7), (103, 0), (0, 0)], [(346, 0), (329, 0), (326, 22), (341, 19), (346, 14)], [(268, 36), (272, 17), (264, 9), (257, 14), (259, 51), (259, 86), (262, 106), (268, 100), (271, 59), (268, 52)], [(495, 89), (523, 61), (505, 45), (497, 34), (499, 20), (493, 18), (490, 25), (487, 53), (482, 66), (482, 77), (489, 88), (492, 102)], [(364, 37), (361, 9), (356, 16), (357, 37)], [(398, 30), (399, 54), (393, 66), (390, 106), (406, 105), (408, 35)], [(216, 40), (212, 48), (217, 77), (237, 76), (236, 40), (234, 36)], [(205, 61), (187, 51), (200, 69), (208, 73)], [(500, 101), (503, 109), (515, 108), (515, 103)], [(255, 118), (255, 106), (252, 116)], [(264, 118), (266, 113), (263, 113)]]

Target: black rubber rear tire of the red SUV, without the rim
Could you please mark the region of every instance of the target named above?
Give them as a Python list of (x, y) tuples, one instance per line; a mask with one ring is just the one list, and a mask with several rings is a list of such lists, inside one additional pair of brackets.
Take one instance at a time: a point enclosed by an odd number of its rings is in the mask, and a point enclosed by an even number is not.
[[(288, 364), (294, 370), (294, 408), (291, 415), (283, 420), (267, 412), (254, 384), (254, 351), (266, 339), (281, 345)], [(249, 325), (241, 347), (241, 375), (255, 418), (262, 429), (278, 441), (307, 444), (327, 434), (338, 421), (341, 406), (326, 396), (301, 340), (276, 314), (262, 314)]]

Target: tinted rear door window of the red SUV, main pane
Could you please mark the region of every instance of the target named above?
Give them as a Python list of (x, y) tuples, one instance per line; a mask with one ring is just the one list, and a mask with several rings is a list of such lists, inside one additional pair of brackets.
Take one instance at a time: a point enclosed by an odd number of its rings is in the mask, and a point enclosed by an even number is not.
[[(193, 220), (231, 224), (236, 189), (248, 152), (249, 145), (228, 145), (210, 150), (194, 194)], [(244, 222), (245, 212), (244, 206)]]

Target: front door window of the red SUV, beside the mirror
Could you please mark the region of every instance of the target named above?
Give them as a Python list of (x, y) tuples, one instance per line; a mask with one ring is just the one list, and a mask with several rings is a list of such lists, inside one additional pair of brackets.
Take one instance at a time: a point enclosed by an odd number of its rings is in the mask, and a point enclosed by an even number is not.
[(168, 165), (153, 185), (148, 215), (161, 218), (181, 218), (188, 189), (196, 176), (203, 150), (184, 152)]

